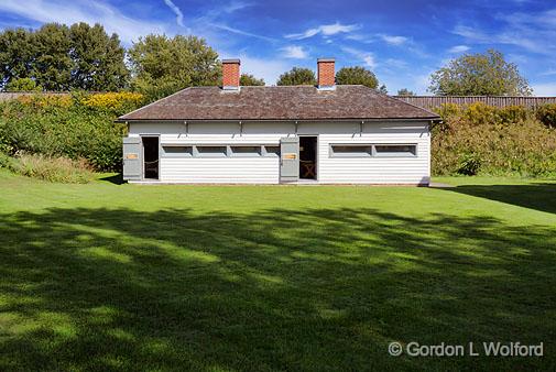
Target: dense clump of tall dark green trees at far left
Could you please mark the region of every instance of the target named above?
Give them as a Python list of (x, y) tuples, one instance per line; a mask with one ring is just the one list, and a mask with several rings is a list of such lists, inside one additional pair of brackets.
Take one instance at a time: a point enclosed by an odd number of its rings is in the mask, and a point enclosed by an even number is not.
[(129, 75), (118, 35), (87, 23), (6, 30), (0, 33), (0, 65), (4, 89), (12, 80), (30, 78), (46, 90), (117, 90)]

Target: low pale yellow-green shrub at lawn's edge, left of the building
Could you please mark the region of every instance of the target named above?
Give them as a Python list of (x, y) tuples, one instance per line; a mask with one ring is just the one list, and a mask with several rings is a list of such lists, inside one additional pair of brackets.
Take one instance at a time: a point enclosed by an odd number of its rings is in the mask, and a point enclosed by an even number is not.
[(86, 184), (95, 178), (95, 173), (84, 160), (23, 154), (9, 163), (9, 167), (21, 175), (48, 182)]

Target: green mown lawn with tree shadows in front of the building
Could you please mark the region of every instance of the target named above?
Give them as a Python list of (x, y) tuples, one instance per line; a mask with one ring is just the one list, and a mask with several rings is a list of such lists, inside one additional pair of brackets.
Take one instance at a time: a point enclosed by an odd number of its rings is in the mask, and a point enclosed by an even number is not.
[[(556, 368), (556, 182), (47, 184), (0, 172), (0, 370)], [(542, 358), (391, 341), (544, 342)]]

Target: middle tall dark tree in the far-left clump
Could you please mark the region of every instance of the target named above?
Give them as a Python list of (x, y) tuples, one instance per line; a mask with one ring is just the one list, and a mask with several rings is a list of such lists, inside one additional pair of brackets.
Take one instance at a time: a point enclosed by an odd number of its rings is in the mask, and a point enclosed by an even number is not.
[(31, 61), (32, 77), (46, 90), (69, 90), (73, 67), (69, 28), (46, 23), (34, 33), (32, 42), (36, 53)]

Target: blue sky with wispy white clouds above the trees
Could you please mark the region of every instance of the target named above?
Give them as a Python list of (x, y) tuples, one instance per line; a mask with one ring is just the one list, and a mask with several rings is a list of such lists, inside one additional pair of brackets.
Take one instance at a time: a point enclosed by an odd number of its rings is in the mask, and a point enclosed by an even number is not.
[(205, 37), (268, 85), (317, 57), (372, 69), (390, 92), (425, 94), (462, 53), (502, 51), (538, 96), (556, 96), (556, 0), (1, 0), (0, 28), (100, 22), (124, 45), (149, 33)]

